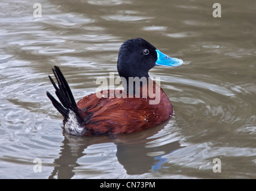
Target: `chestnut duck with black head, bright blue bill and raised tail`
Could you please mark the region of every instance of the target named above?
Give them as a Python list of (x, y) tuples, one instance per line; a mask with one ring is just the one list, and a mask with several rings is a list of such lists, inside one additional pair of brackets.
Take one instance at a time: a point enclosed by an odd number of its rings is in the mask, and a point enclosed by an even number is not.
[(117, 71), (123, 85), (121, 90), (101, 90), (76, 102), (60, 68), (54, 66), (52, 70), (57, 83), (50, 75), (48, 77), (59, 101), (48, 91), (46, 94), (62, 114), (66, 134), (135, 133), (156, 127), (173, 115), (169, 97), (150, 78), (149, 70), (154, 66), (176, 67), (182, 63), (179, 58), (161, 53), (143, 38), (127, 39), (121, 44), (117, 58)]

